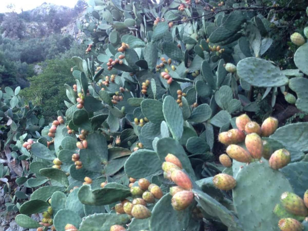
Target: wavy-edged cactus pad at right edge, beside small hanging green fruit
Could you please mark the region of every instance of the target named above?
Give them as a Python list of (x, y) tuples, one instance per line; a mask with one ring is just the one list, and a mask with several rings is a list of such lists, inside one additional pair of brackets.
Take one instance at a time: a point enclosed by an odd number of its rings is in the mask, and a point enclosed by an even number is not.
[(308, 79), (303, 77), (292, 78), (289, 81), (289, 87), (292, 91), (296, 92), (298, 97), (295, 106), (304, 112), (308, 112), (308, 94), (306, 86), (308, 86)]

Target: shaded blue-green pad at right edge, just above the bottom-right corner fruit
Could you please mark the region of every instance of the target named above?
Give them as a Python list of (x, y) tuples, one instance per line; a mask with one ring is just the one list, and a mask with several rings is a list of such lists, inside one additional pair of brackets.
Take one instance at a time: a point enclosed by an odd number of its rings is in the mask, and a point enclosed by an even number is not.
[(303, 198), (307, 190), (306, 179), (308, 174), (308, 162), (300, 161), (290, 163), (279, 171), (289, 180), (294, 189), (294, 193)]

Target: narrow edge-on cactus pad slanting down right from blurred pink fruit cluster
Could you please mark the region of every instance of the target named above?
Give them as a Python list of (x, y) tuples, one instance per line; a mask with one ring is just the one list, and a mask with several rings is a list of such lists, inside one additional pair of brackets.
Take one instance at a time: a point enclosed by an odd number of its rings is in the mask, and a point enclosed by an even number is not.
[(193, 192), (195, 193), (195, 200), (207, 214), (217, 217), (230, 229), (232, 228), (238, 231), (244, 230), (237, 217), (221, 203), (198, 189), (193, 189)]

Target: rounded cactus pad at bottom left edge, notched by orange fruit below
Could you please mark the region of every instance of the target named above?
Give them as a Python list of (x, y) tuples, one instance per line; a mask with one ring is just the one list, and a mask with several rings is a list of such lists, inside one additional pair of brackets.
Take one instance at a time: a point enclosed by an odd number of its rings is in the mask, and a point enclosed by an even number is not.
[(80, 223), (81, 218), (70, 209), (60, 209), (54, 216), (54, 226), (57, 230), (64, 230), (67, 224), (72, 224), (78, 229)]

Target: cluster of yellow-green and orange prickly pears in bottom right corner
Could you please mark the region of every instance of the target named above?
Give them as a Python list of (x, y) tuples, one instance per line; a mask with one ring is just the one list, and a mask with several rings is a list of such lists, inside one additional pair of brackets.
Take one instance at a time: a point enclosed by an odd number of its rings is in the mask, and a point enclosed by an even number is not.
[(278, 227), (282, 231), (302, 231), (303, 225), (300, 221), (308, 215), (308, 190), (304, 194), (304, 199), (295, 193), (282, 193), (280, 204), (275, 206), (274, 213), (281, 218)]

